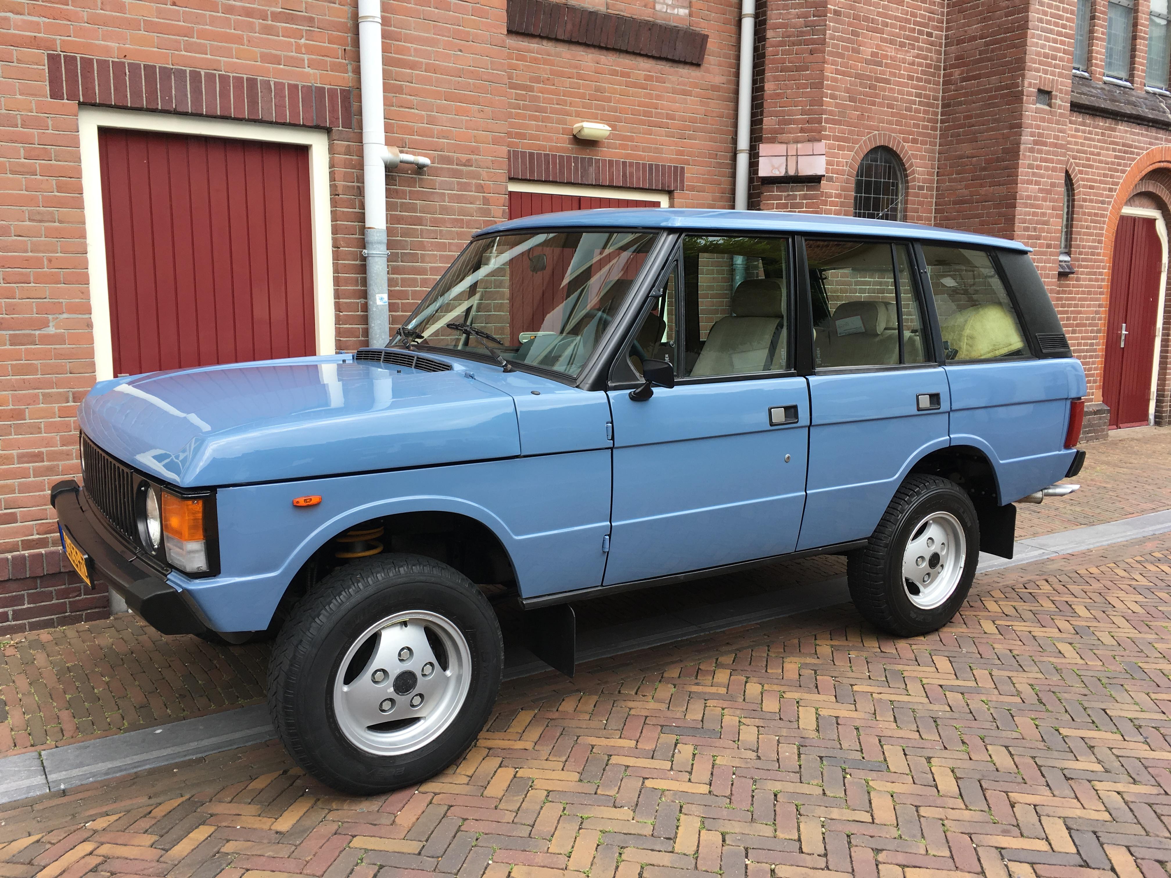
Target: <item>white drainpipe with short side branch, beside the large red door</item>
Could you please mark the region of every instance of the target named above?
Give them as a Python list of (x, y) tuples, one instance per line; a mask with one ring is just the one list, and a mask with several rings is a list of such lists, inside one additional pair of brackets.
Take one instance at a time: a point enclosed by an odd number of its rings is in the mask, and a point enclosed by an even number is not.
[(358, 0), (358, 67), (362, 74), (362, 198), (365, 204), (367, 334), (371, 348), (390, 341), (386, 294), (386, 171), (423, 169), (431, 159), (386, 148), (382, 102), (382, 0)]

